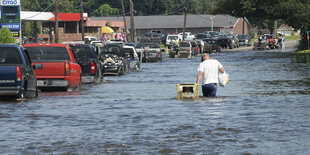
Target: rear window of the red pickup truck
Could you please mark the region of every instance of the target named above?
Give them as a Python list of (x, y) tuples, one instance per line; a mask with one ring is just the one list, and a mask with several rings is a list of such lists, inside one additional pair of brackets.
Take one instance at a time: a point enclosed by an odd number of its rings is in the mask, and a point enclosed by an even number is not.
[(31, 60), (69, 60), (65, 47), (27, 47)]

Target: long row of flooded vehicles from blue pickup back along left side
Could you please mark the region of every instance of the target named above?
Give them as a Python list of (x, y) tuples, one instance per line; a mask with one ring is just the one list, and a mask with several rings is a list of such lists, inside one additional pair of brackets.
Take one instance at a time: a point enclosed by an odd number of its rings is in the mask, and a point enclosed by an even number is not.
[(159, 44), (117, 40), (105, 44), (0, 44), (0, 97), (31, 98), (40, 91), (79, 90), (81, 84), (103, 82), (106, 75), (140, 70), (140, 58), (161, 62)]

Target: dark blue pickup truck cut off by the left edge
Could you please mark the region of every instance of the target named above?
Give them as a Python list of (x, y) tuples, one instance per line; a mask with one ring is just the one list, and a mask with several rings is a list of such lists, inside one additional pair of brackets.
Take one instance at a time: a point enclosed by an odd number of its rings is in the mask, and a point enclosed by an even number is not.
[(35, 97), (37, 80), (33, 69), (42, 69), (31, 61), (26, 51), (17, 45), (0, 45), (0, 96)]

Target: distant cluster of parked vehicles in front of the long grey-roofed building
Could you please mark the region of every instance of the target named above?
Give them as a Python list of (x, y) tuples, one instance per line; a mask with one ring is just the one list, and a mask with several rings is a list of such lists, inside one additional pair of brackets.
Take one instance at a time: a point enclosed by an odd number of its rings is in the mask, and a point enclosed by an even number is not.
[[(206, 31), (196, 35), (190, 32), (167, 35), (166, 46), (170, 49), (170, 57), (189, 58), (201, 53), (221, 52), (223, 48), (238, 48), (251, 46), (251, 37), (248, 34), (234, 35), (229, 33)], [(143, 38), (143, 37), (142, 37)], [(151, 40), (149, 38), (149, 40)]]

